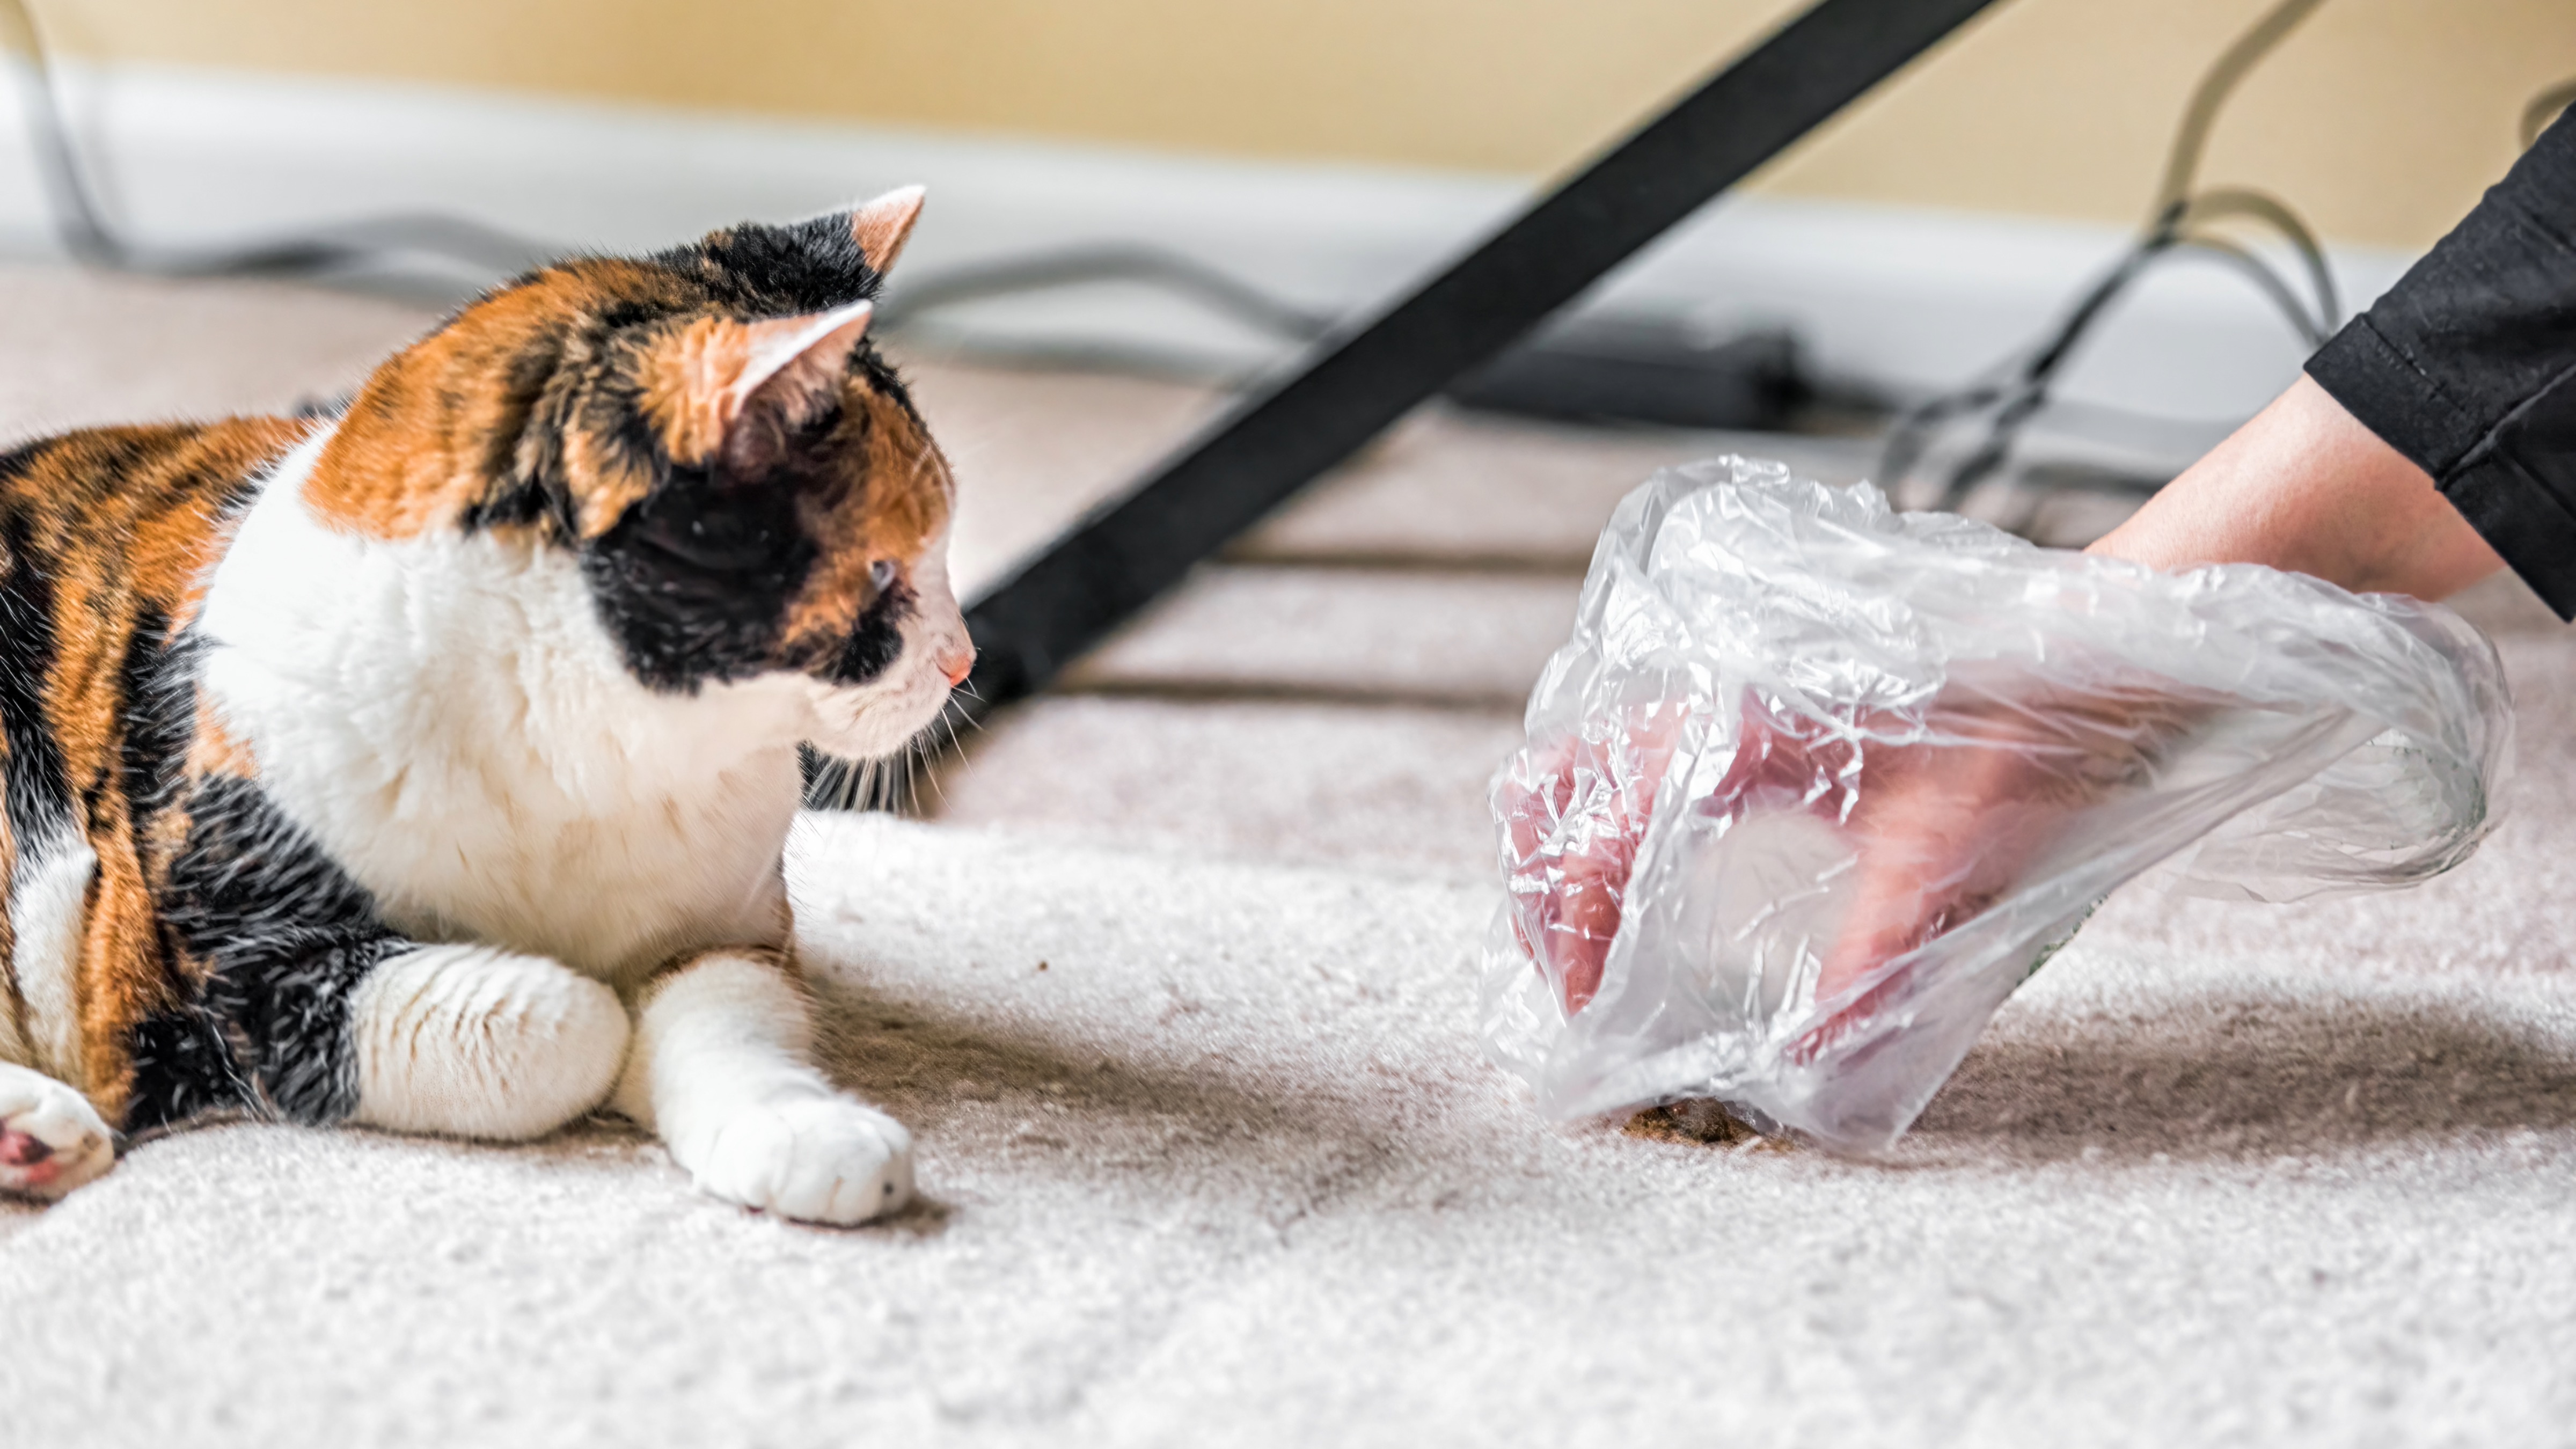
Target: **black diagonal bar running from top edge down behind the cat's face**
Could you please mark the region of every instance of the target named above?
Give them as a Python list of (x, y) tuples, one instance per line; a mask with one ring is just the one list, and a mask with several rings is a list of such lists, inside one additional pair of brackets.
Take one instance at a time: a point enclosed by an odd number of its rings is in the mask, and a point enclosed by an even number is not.
[(1819, 0), (969, 611), (971, 699), (1043, 688), (1190, 567), (1994, 0)]

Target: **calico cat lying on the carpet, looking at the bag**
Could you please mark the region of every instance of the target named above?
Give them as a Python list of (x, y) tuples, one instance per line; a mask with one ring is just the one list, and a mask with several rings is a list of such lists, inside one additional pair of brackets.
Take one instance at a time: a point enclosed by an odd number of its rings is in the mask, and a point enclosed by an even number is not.
[(611, 1106), (817, 1222), (912, 1191), (806, 1060), (799, 745), (974, 650), (868, 304), (917, 188), (464, 307), (335, 418), (0, 456), (0, 1189), (211, 1114)]

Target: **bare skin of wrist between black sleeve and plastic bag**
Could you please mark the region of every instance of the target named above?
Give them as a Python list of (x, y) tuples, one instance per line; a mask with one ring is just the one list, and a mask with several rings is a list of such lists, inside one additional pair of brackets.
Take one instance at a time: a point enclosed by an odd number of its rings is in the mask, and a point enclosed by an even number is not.
[(2251, 562), (2416, 598), (2504, 567), (2424, 469), (2308, 376), (2089, 552), (2159, 570)]

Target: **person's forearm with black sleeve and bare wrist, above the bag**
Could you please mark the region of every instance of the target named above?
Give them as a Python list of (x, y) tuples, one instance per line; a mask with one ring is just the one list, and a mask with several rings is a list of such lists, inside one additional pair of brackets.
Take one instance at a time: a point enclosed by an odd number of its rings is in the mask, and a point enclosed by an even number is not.
[(2298, 384), (2097, 552), (2455, 593), (2506, 562), (2576, 619), (2576, 113)]

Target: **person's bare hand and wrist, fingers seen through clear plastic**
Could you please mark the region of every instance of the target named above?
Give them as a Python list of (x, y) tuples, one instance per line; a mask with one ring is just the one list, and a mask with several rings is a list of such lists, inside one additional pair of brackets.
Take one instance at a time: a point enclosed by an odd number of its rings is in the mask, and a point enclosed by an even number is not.
[[(2089, 552), (2156, 570), (2257, 562), (2419, 598), (2504, 567), (2432, 477), (2306, 376)], [(1891, 962), (1991, 905), (2076, 810), (2130, 779), (2192, 712), (2148, 681), (2084, 696), (1986, 681), (1935, 706), (1927, 743), (1857, 758), (1829, 758), (1850, 753), (1832, 732), (1749, 712), (1736, 771), (1700, 810), (1770, 810), (1780, 789), (1803, 794), (1816, 781), (1850, 789), (1826, 784), (1798, 804), (1832, 807), (1855, 871), (1819, 964), (1819, 1024), (1801, 1049), (1814, 1055), (1865, 1018), (1893, 985), (1883, 980)], [(1522, 755), (1497, 794), (1515, 926), (1569, 1013), (1600, 990), (1680, 727), (1672, 704), (1589, 722), (1584, 737)]]

